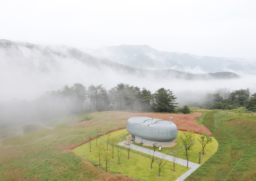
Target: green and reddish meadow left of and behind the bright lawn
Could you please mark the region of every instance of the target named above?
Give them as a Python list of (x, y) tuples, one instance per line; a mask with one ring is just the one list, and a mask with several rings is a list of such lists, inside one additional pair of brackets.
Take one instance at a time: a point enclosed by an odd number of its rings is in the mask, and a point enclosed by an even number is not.
[[(77, 124), (73, 129), (69, 127), (59, 133), (33, 139), (23, 145), (0, 148), (2, 153), (12, 152), (14, 154), (0, 160), (0, 180), (133, 180), (121, 174), (105, 173), (86, 159), (75, 155), (70, 149), (85, 143), (88, 132), (92, 131), (95, 134), (97, 125), (102, 125), (102, 132), (106, 133), (123, 128), (130, 117), (153, 116), (167, 120), (173, 117), (174, 123), (175, 121), (177, 124), (184, 122), (185, 128), (188, 127), (188, 124), (185, 124), (186, 120), (194, 124), (193, 119), (201, 115), (201, 113), (195, 113), (182, 118), (183, 114), (113, 111), (78, 115), (74, 118)], [(61, 122), (56, 121), (56, 123)], [(199, 128), (208, 130), (203, 125), (196, 127), (198, 131)]]

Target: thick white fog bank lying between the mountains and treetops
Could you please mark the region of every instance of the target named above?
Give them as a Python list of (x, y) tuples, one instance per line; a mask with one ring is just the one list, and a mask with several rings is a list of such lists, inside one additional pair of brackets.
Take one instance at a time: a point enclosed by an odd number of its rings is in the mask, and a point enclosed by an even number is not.
[[(77, 51), (77, 52), (76, 52)], [(65, 84), (82, 83), (103, 84), (107, 90), (123, 82), (140, 88), (147, 88), (152, 93), (164, 87), (173, 90), (178, 97), (177, 102), (184, 103), (192, 99), (189, 92), (198, 94), (209, 93), (218, 88), (227, 87), (230, 90), (249, 88), (256, 92), (252, 83), (255, 75), (242, 75), (240, 79), (185, 80), (169, 78), (159, 73), (158, 77), (151, 75), (138, 76), (127, 72), (114, 71), (108, 65), (100, 64), (102, 58), (90, 54), (78, 56), (79, 50), (67, 46), (41, 46), (10, 42), (9, 47), (0, 48), (0, 100), (18, 99), (32, 100), (45, 91), (61, 89)], [(89, 61), (88, 61), (89, 60)], [(200, 67), (185, 68), (193, 73), (203, 73)]]

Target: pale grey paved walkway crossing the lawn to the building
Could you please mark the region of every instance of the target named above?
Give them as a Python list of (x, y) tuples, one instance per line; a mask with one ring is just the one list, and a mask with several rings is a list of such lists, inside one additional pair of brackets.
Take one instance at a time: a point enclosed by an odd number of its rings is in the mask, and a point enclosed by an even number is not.
[[(125, 146), (125, 141), (121, 142), (121, 143), (118, 143), (118, 144), (121, 145), (121, 146)], [(134, 145), (134, 144), (132, 144), (131, 148), (133, 150), (140, 151), (140, 152), (143, 152), (143, 153), (146, 153), (146, 154), (148, 154), (149, 151), (150, 151), (150, 155), (153, 155), (153, 152), (154, 152), (152, 150), (149, 150), (147, 148), (143, 148), (143, 147), (140, 147), (140, 146), (137, 146), (137, 145)], [(155, 156), (159, 157), (159, 158), (163, 158), (163, 159), (168, 160), (170, 162), (173, 162), (173, 157), (171, 155), (166, 155), (166, 154), (163, 154), (163, 153), (160, 153), (160, 152), (156, 151)], [(197, 163), (193, 163), (193, 162), (190, 162), (190, 161), (187, 161), (187, 160), (184, 160), (184, 159), (180, 159), (180, 158), (178, 158), (177, 163), (182, 165), (182, 166), (187, 166), (187, 163), (188, 163), (188, 167), (190, 169), (188, 171), (186, 171), (182, 176), (180, 176), (176, 181), (183, 181), (191, 173), (193, 173), (193, 171), (195, 171), (199, 166), (201, 166)]]

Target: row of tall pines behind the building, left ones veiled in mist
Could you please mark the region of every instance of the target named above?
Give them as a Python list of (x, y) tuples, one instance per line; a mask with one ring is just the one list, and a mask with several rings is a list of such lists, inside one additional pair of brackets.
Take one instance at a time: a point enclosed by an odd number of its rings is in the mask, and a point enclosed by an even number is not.
[(129, 111), (154, 111), (173, 112), (175, 111), (175, 100), (177, 99), (172, 91), (159, 88), (154, 94), (146, 88), (130, 86), (119, 83), (117, 86), (106, 90), (101, 85), (91, 84), (86, 87), (81, 83), (75, 83), (69, 87), (65, 85), (57, 91), (48, 91), (40, 97), (42, 102), (54, 107), (59, 112), (83, 112), (83, 110), (129, 110)]

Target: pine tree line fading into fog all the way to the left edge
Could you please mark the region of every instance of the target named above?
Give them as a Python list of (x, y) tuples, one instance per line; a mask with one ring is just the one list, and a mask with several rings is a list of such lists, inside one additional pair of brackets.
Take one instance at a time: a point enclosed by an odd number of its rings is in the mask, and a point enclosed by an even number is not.
[(0, 102), (0, 127), (10, 123), (44, 121), (70, 113), (103, 110), (125, 110), (136, 112), (171, 112), (176, 110), (177, 98), (169, 89), (159, 88), (151, 93), (146, 88), (119, 83), (106, 90), (101, 85), (85, 87), (75, 83), (59, 90), (46, 91), (34, 101), (15, 99)]

